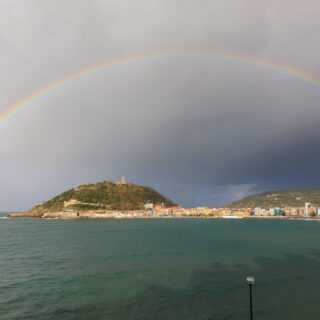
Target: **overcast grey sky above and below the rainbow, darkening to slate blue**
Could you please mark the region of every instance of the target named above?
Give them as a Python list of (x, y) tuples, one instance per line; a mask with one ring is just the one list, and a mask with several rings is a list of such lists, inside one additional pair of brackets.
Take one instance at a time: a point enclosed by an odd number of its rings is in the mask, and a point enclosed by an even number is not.
[[(0, 113), (88, 65), (225, 51), (320, 79), (318, 0), (0, 0)], [(66, 188), (150, 185), (185, 206), (320, 185), (320, 86), (215, 55), (83, 75), (0, 122), (0, 210)]]

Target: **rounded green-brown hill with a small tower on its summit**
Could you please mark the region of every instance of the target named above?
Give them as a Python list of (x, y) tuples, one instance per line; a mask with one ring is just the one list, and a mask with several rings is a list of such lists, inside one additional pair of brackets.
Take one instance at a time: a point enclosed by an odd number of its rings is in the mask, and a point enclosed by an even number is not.
[(152, 188), (108, 181), (84, 184), (65, 191), (32, 208), (33, 213), (63, 210), (140, 210), (146, 203), (172, 206), (174, 203)]

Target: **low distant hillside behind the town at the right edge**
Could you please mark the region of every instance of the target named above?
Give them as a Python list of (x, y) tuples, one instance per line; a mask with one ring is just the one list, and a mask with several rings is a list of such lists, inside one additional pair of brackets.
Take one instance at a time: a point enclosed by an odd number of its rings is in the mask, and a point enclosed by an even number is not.
[(229, 204), (230, 208), (303, 207), (310, 202), (320, 207), (320, 188), (279, 190), (259, 193)]

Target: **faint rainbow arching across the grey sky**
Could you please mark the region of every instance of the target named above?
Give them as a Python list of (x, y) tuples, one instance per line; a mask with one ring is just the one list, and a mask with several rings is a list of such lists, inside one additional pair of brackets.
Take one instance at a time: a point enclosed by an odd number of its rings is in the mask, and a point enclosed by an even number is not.
[(255, 64), (269, 67), (276, 72), (283, 72), (288, 76), (298, 78), (302, 81), (308, 82), (312, 85), (320, 85), (320, 78), (315, 75), (297, 68), (292, 65), (278, 64), (274, 63), (271, 60), (264, 58), (257, 58), (249, 55), (242, 54), (234, 54), (217, 50), (208, 50), (208, 51), (170, 51), (170, 52), (158, 52), (158, 53), (150, 53), (150, 54), (137, 54), (130, 55), (123, 58), (118, 58), (114, 60), (110, 60), (107, 62), (102, 62), (94, 65), (89, 65), (75, 73), (69, 74), (64, 78), (57, 80), (48, 84), (47, 86), (40, 88), (39, 90), (34, 91), (29, 96), (16, 101), (14, 104), (8, 106), (4, 112), (0, 113), (0, 122), (5, 121), (6, 119), (12, 117), (16, 112), (18, 112), (24, 106), (27, 106), (30, 102), (35, 99), (45, 96), (56, 88), (63, 86), (66, 82), (77, 80), (83, 76), (88, 74), (95, 73), (101, 69), (109, 69), (117, 65), (124, 65), (131, 62), (146, 60), (146, 59), (156, 59), (156, 58), (164, 58), (164, 57), (182, 57), (182, 56), (216, 56), (226, 60), (233, 60), (246, 64)]

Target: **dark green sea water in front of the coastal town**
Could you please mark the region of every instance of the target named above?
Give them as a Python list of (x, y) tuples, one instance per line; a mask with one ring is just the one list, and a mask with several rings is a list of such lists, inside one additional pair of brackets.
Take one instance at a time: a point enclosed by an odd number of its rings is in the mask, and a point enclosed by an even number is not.
[(320, 317), (320, 222), (0, 219), (0, 319)]

